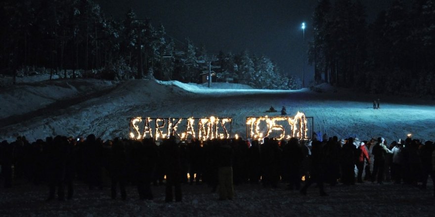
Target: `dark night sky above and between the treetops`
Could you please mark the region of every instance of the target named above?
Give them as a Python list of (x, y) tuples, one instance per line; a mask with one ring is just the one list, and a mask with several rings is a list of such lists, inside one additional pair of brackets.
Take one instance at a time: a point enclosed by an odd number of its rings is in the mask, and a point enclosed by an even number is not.
[[(301, 23), (306, 22), (305, 43), (312, 40), (311, 15), (317, 0), (97, 0), (106, 15), (124, 17), (133, 8), (138, 18), (162, 23), (169, 36), (195, 45), (204, 44), (210, 53), (247, 49), (266, 55), (282, 72), (302, 78)], [(363, 0), (368, 19), (386, 9), (392, 0)], [(313, 68), (305, 64), (305, 83)]]

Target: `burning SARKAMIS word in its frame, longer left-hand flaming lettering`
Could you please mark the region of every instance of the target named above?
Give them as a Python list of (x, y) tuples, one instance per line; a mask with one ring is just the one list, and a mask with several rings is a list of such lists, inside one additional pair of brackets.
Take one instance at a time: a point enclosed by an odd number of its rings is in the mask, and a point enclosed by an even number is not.
[(231, 138), (232, 118), (151, 118), (135, 117), (130, 120), (130, 138), (209, 140)]

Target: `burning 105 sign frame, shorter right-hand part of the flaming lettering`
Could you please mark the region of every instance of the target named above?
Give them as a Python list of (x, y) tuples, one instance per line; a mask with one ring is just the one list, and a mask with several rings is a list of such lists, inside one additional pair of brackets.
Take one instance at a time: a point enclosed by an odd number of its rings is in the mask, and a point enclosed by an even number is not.
[(254, 140), (261, 140), (265, 137), (276, 138), (278, 140), (298, 137), (307, 138), (308, 131), (305, 114), (298, 112), (296, 116), (276, 116), (276, 117), (247, 117), (246, 136)]

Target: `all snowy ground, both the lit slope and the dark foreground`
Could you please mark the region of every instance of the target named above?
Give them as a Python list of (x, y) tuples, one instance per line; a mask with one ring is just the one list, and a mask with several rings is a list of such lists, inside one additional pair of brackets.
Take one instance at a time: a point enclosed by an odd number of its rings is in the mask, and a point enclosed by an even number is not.
[[(215, 87), (217, 84), (214, 84)], [(265, 113), (273, 106), (314, 117), (314, 131), (361, 140), (383, 136), (388, 141), (404, 138), (434, 140), (433, 101), (354, 94), (320, 85), (316, 91), (255, 90), (234, 84), (208, 89), (197, 84), (128, 80), (51, 80), (22, 83), (0, 89), (0, 140), (25, 135), (30, 141), (57, 134), (103, 139), (128, 137), (135, 116), (233, 117), (233, 134), (245, 135), (247, 116)], [(227, 89), (229, 88), (232, 89)], [(214, 88), (215, 88), (214, 87)], [(321, 90), (321, 91), (319, 91)], [(372, 109), (373, 99), (381, 109)], [(365, 182), (354, 186), (326, 186), (328, 197), (318, 196), (312, 186), (307, 196), (297, 191), (239, 185), (232, 201), (218, 201), (203, 185), (182, 185), (181, 203), (164, 203), (164, 186), (153, 186), (154, 200), (138, 200), (129, 186), (128, 199), (111, 200), (110, 189), (87, 190), (75, 185), (75, 197), (65, 202), (44, 202), (48, 189), (28, 182), (13, 188), (0, 187), (0, 216), (434, 216), (433, 188), (420, 190), (402, 184)]]

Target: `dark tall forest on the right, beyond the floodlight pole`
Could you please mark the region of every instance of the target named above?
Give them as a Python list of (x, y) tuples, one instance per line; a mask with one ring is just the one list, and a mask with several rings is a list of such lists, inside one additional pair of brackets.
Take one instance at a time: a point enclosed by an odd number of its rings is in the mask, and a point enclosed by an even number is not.
[(319, 0), (314, 80), (368, 93), (435, 95), (435, 1), (394, 0), (367, 23), (361, 0)]

